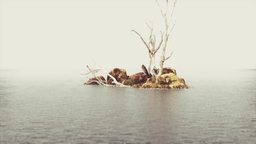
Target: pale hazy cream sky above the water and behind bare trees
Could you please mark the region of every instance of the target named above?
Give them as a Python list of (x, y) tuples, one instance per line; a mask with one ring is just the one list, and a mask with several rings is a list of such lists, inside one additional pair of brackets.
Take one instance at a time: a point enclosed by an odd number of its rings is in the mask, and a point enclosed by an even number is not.
[[(140, 69), (148, 52), (131, 30), (148, 40), (145, 21), (162, 24), (154, 0), (0, 1), (1, 69)], [(256, 1), (177, 0), (174, 18), (165, 67), (256, 68)]]

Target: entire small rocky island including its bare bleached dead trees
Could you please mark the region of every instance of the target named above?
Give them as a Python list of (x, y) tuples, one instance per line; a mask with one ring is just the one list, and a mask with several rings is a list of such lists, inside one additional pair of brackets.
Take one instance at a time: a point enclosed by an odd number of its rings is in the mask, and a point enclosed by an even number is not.
[[(142, 73), (137, 73), (131, 76), (127, 76), (125, 69), (114, 68), (112, 71), (107, 72), (106, 70), (100, 69), (90, 70), (90, 73), (94, 75), (94, 78), (90, 78), (88, 82), (84, 83), (85, 85), (105, 85), (105, 86), (132, 86), (134, 88), (159, 88), (159, 89), (181, 89), (189, 88), (185, 84), (185, 80), (179, 78), (176, 74), (176, 70), (172, 68), (164, 68), (164, 62), (167, 61), (172, 56), (166, 56), (167, 43), (170, 37), (171, 32), (173, 31), (176, 21), (172, 21), (173, 11), (176, 5), (175, 1), (162, 1), (161, 3), (158, 0), (155, 0), (156, 4), (160, 9), (160, 14), (162, 16), (162, 22), (164, 22), (164, 29), (159, 29), (160, 34), (156, 34), (156, 29), (154, 29), (153, 22), (146, 22), (150, 34), (149, 39), (146, 40), (141, 34), (137, 31), (132, 30), (139, 36), (143, 44), (147, 48), (149, 54), (149, 67), (148, 69), (142, 65)], [(156, 68), (155, 56), (156, 52), (162, 50), (161, 57), (159, 61), (159, 69)], [(95, 73), (103, 72), (107, 75), (107, 80), (104, 79), (104, 76), (97, 76)], [(152, 73), (152, 74), (150, 74)], [(86, 75), (86, 74), (85, 74)]]

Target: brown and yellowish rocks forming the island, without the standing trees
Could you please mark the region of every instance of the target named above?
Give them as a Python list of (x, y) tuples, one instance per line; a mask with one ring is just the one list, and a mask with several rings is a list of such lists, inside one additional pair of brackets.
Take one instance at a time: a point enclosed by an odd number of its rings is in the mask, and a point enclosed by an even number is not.
[[(159, 69), (157, 70), (159, 71)], [(131, 76), (127, 76), (125, 69), (114, 68), (107, 75), (107, 81), (104, 76), (97, 76), (89, 79), (84, 85), (104, 85), (118, 86), (114, 80), (110, 77), (113, 76), (118, 83), (122, 83), (124, 86), (132, 86), (133, 88), (161, 88), (161, 89), (182, 89), (189, 88), (185, 84), (185, 80), (179, 78), (176, 74), (176, 70), (172, 68), (163, 68), (159, 82), (156, 83), (156, 78), (147, 71), (137, 73)], [(101, 82), (100, 82), (101, 81)]]

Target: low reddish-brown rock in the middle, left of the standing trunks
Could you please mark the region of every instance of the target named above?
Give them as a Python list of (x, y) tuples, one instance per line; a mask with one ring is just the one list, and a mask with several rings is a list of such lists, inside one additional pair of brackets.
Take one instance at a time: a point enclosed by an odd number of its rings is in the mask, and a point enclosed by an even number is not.
[(137, 83), (144, 83), (148, 79), (147, 75), (144, 73), (137, 73), (131, 75), (128, 80), (125, 80), (124, 85), (126, 86), (133, 86)]

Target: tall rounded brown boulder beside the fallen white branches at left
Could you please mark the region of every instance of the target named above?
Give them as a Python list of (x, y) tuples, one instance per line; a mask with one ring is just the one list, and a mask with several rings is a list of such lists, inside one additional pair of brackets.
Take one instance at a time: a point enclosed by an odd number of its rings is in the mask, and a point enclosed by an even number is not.
[[(112, 75), (120, 83), (123, 83), (129, 78), (129, 76), (127, 76), (126, 74), (125, 69), (114, 68), (112, 71), (109, 72), (109, 74)], [(113, 80), (109, 76), (107, 76), (107, 81), (109, 85), (113, 84)]]

